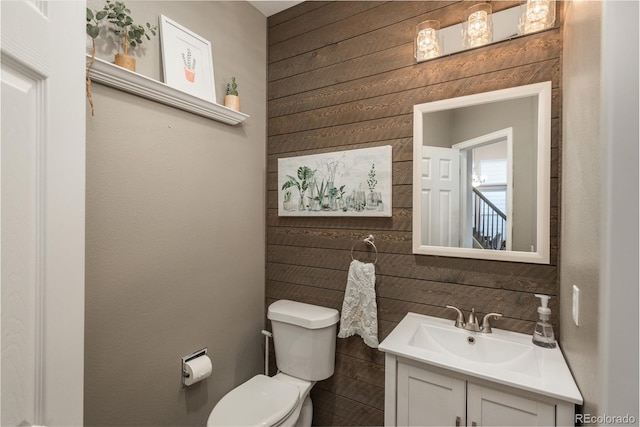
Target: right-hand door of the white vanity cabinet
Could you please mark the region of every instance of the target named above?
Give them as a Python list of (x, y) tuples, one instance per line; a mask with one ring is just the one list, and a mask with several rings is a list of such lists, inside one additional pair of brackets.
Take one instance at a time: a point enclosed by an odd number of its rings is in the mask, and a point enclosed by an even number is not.
[(467, 383), (470, 426), (553, 426), (555, 405)]

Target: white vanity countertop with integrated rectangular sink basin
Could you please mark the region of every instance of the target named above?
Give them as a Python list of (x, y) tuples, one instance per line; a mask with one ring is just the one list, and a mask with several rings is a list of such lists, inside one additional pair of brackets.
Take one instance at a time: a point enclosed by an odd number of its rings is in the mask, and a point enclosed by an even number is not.
[(408, 313), (379, 350), (480, 379), (582, 404), (559, 348), (542, 348), (531, 335), (456, 328), (453, 320)]

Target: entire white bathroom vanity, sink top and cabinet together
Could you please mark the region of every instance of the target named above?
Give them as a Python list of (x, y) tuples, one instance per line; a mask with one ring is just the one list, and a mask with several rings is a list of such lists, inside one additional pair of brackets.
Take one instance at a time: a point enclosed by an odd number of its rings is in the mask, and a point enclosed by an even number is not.
[(583, 399), (560, 347), (407, 313), (385, 353), (386, 426), (572, 426)]

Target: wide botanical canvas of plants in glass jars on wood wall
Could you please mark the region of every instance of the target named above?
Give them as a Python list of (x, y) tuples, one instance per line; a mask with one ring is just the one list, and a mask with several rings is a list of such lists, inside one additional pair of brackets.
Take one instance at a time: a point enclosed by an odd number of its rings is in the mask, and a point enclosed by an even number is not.
[(278, 159), (279, 216), (391, 216), (391, 146)]

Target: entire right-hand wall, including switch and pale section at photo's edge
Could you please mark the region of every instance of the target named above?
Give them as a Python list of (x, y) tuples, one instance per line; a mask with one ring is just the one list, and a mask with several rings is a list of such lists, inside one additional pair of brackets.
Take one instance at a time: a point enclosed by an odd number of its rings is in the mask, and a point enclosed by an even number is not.
[(582, 412), (629, 414), (637, 425), (638, 4), (567, 2), (565, 11), (562, 348)]

